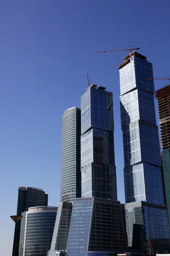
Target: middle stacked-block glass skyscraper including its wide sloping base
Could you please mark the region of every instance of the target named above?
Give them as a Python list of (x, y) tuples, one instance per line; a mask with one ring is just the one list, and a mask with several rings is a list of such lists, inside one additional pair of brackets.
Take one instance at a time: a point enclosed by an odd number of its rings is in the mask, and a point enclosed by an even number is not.
[(82, 198), (74, 199), (67, 253), (112, 256), (127, 250), (122, 207), (116, 201), (112, 93), (88, 87), (81, 118)]

